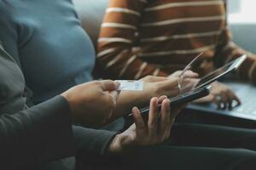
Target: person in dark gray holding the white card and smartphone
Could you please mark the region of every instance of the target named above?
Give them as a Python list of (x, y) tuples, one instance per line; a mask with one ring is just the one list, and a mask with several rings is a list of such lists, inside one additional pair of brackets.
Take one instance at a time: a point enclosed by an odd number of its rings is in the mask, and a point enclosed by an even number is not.
[[(143, 122), (137, 107), (132, 109), (135, 124), (124, 133), (72, 126), (72, 122), (100, 125), (111, 120), (119, 83), (109, 80), (75, 86), (29, 108), (24, 77), (1, 43), (0, 77), (0, 168), (5, 170), (74, 169), (73, 160), (60, 159), (81, 152), (104, 155), (161, 143), (169, 137), (175, 119), (169, 99), (163, 96), (151, 99), (149, 126)], [(104, 111), (99, 112), (97, 105)], [(159, 116), (162, 118), (158, 122)], [(155, 128), (158, 131), (154, 131)]]

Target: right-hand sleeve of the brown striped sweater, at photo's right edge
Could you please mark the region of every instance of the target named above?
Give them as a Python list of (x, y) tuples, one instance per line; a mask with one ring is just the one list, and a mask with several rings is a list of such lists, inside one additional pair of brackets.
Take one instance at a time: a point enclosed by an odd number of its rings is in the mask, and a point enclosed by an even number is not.
[[(226, 24), (227, 25), (227, 24)], [(246, 32), (244, 32), (246, 33)], [(218, 66), (224, 65), (233, 59), (240, 57), (242, 54), (247, 54), (247, 59), (237, 71), (241, 80), (256, 82), (256, 55), (247, 52), (245, 49), (232, 42), (232, 35), (225, 26), (220, 36), (218, 37), (218, 46), (216, 48), (215, 60)]]

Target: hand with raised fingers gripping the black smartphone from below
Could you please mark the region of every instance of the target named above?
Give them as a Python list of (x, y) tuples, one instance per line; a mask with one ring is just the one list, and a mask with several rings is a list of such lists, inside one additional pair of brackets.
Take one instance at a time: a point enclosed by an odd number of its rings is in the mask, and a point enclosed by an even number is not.
[[(161, 103), (159, 111), (158, 104)], [(171, 113), (170, 100), (166, 96), (153, 98), (150, 101), (148, 122), (143, 121), (137, 107), (132, 109), (134, 124), (124, 133), (119, 133), (109, 144), (109, 151), (120, 153), (136, 149), (138, 146), (160, 144), (170, 136), (170, 131), (177, 116), (177, 112)]]

